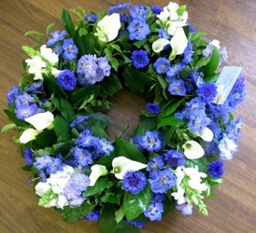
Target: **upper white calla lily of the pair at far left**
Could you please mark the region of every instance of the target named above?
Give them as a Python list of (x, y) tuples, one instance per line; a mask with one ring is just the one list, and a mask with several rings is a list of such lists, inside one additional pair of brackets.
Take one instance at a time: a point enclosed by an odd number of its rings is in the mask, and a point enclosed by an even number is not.
[(32, 117), (25, 118), (25, 121), (32, 124), (36, 130), (44, 130), (48, 128), (53, 120), (54, 116), (49, 111), (45, 113), (38, 113)]

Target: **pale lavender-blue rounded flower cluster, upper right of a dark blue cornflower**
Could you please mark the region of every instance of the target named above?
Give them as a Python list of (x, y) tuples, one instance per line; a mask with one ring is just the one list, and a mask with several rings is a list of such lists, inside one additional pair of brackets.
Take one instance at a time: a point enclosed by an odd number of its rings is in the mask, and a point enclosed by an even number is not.
[(81, 86), (93, 85), (110, 75), (111, 66), (107, 57), (96, 58), (92, 55), (83, 55), (78, 60), (78, 83)]

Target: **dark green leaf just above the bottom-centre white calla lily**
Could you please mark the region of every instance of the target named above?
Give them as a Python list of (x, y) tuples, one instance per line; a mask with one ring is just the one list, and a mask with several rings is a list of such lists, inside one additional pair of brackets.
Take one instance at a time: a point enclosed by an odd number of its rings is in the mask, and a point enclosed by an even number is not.
[(147, 159), (143, 156), (143, 154), (138, 150), (138, 148), (134, 144), (117, 138), (115, 142), (115, 147), (116, 155), (120, 157), (130, 158), (141, 163), (147, 163)]

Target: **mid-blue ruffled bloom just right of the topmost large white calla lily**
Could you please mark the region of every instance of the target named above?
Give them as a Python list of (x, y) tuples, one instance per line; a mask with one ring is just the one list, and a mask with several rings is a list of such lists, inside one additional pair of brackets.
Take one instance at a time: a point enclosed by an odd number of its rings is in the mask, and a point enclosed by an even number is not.
[(149, 24), (142, 18), (131, 21), (127, 30), (130, 40), (143, 40), (150, 34)]

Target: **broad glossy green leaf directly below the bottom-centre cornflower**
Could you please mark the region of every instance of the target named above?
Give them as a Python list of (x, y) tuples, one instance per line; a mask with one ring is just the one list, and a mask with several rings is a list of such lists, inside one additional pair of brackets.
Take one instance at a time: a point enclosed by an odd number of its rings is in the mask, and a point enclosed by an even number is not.
[(149, 184), (137, 195), (126, 192), (123, 196), (123, 211), (128, 221), (145, 212), (149, 206), (152, 193)]

